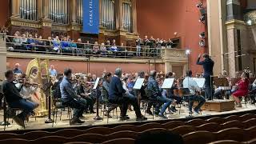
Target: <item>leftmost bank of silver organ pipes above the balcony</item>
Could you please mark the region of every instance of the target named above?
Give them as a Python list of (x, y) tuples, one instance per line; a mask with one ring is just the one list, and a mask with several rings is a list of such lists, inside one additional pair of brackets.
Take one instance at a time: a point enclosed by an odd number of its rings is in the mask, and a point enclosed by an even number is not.
[(20, 0), (19, 7), (22, 19), (38, 20), (38, 0)]

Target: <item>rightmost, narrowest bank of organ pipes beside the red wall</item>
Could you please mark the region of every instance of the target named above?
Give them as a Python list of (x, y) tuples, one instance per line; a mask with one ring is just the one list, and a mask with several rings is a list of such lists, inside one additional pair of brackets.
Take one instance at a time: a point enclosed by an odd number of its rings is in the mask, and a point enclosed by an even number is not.
[(122, 26), (125, 30), (132, 32), (132, 14), (130, 0), (125, 0), (124, 2), (122, 2)]

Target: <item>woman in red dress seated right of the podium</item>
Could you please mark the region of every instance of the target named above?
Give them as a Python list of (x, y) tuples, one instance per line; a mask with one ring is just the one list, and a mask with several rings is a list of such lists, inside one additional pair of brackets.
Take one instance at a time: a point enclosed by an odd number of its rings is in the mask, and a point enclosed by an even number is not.
[(242, 107), (240, 97), (245, 97), (249, 92), (249, 79), (248, 74), (245, 72), (241, 75), (241, 80), (236, 83), (238, 86), (238, 90), (236, 90), (232, 97), (234, 98), (235, 102), (237, 103), (237, 107)]

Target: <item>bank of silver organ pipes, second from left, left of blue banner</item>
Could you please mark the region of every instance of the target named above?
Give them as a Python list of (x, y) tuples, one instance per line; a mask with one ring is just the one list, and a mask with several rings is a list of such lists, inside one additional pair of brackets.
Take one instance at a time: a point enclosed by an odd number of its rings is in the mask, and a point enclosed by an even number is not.
[(69, 23), (69, 1), (68, 0), (50, 0), (50, 16), (54, 23)]

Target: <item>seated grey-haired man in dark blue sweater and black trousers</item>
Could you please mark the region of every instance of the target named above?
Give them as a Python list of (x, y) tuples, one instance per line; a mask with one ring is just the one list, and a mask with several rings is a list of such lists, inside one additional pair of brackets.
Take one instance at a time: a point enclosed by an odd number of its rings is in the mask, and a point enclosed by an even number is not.
[(126, 94), (126, 90), (122, 88), (122, 70), (117, 68), (114, 72), (114, 76), (110, 81), (110, 91), (109, 91), (109, 102), (113, 104), (122, 105), (121, 109), (121, 119), (127, 120), (129, 117), (126, 116), (129, 104), (134, 106), (134, 111), (136, 114), (136, 121), (144, 121), (146, 118), (141, 114), (138, 106), (138, 100), (135, 97), (129, 97)]

